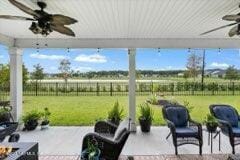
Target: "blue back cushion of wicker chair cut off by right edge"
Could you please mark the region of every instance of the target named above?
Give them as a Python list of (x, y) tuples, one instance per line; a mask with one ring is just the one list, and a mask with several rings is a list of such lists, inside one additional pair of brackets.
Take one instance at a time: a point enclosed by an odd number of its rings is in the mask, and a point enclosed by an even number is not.
[(218, 119), (228, 121), (232, 127), (238, 127), (238, 115), (231, 107), (216, 106), (213, 111)]

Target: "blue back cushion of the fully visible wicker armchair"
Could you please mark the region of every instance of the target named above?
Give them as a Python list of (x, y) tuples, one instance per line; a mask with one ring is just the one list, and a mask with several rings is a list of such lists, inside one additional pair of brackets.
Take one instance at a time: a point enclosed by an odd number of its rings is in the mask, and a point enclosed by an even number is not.
[(167, 107), (167, 119), (172, 121), (176, 127), (186, 127), (188, 122), (187, 110), (183, 107)]

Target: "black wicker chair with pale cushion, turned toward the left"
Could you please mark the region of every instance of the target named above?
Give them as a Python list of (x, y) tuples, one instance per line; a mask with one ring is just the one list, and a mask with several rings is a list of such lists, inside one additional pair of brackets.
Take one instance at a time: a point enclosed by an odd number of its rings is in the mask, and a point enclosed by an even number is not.
[(95, 133), (89, 133), (83, 138), (82, 151), (87, 148), (88, 141), (95, 141), (101, 150), (100, 158), (118, 160), (128, 139), (130, 120), (122, 121), (119, 126), (110, 122), (99, 121), (94, 127)]

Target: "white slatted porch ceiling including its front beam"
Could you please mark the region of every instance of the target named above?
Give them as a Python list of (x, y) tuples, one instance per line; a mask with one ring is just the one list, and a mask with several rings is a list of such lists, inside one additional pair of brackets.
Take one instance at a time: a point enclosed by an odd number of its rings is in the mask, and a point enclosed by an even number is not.
[[(38, 9), (37, 0), (18, 0)], [(0, 43), (22, 48), (240, 48), (240, 38), (228, 37), (222, 29), (200, 36), (207, 30), (231, 22), (226, 14), (240, 12), (240, 0), (44, 0), (46, 11), (77, 19), (70, 27), (76, 38), (53, 32), (43, 38), (28, 28), (31, 22), (0, 19)], [(0, 15), (28, 16), (0, 0)], [(38, 39), (38, 40), (36, 40)]]

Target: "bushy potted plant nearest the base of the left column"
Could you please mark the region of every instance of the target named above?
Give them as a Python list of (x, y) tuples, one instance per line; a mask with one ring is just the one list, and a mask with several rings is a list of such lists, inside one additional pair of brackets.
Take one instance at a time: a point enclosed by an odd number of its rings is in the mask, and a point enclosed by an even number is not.
[(26, 113), (22, 118), (24, 123), (23, 130), (27, 130), (27, 131), (35, 130), (38, 126), (38, 121), (40, 120), (40, 118), (41, 118), (41, 113), (39, 113), (36, 110)]

